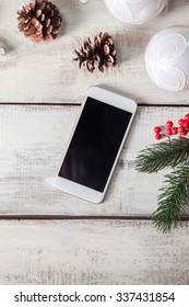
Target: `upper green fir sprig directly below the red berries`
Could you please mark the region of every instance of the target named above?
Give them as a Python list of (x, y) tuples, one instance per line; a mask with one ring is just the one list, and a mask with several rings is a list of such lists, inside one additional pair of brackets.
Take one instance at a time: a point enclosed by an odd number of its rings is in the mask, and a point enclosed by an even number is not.
[(177, 167), (189, 161), (189, 139), (173, 139), (152, 145), (137, 157), (135, 169), (140, 172), (157, 172), (165, 167)]

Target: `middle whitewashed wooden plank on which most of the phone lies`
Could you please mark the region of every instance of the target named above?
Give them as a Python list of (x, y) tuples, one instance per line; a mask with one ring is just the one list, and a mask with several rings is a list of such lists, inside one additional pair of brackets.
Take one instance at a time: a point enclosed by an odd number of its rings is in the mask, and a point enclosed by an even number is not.
[[(0, 106), (0, 214), (128, 216), (152, 214), (163, 172), (134, 170), (139, 150), (154, 143), (154, 125), (177, 121), (187, 107), (139, 107), (105, 202), (83, 202), (55, 190), (79, 106)], [(166, 170), (166, 172), (169, 170)]]

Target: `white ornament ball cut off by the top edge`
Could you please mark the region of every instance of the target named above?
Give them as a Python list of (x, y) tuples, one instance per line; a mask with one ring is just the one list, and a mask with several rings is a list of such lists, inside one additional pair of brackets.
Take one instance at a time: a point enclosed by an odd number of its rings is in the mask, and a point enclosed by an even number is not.
[(105, 4), (118, 20), (141, 24), (156, 18), (168, 0), (105, 0)]

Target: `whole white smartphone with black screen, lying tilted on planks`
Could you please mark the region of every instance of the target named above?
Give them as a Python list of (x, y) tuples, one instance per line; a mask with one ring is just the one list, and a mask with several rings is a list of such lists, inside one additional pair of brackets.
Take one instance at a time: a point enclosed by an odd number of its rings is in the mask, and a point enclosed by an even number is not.
[(137, 112), (137, 103), (90, 88), (71, 134), (55, 186), (92, 203), (106, 194)]

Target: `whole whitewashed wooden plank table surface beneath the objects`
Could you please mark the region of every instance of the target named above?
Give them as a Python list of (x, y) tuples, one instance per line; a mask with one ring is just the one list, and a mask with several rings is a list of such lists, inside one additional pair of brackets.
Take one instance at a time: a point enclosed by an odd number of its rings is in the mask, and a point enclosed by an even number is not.
[[(63, 27), (48, 45), (19, 33), (21, 1), (0, 2), (0, 44), (7, 50), (0, 58), (0, 284), (188, 284), (189, 224), (181, 221), (168, 235), (154, 228), (151, 215), (164, 172), (140, 174), (133, 163), (154, 143), (154, 124), (188, 112), (189, 93), (153, 84), (143, 55), (153, 34), (189, 24), (189, 2), (170, 0), (167, 14), (142, 26), (120, 23), (103, 0), (54, 2)], [(73, 50), (101, 31), (115, 37), (119, 61), (90, 75), (78, 69)], [(50, 185), (90, 86), (140, 105), (99, 205)]]

